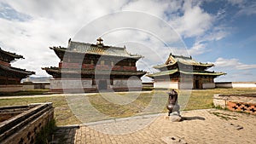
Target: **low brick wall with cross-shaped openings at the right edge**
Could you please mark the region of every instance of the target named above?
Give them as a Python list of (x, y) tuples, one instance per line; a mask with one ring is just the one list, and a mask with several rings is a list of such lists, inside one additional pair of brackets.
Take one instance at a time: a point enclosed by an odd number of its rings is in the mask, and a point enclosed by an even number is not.
[(214, 95), (213, 104), (215, 107), (227, 108), (231, 111), (256, 114), (256, 94)]

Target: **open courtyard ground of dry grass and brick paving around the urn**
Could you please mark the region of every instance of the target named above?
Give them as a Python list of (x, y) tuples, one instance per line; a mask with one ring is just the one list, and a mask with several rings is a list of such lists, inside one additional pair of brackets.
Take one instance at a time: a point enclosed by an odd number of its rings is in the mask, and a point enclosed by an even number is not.
[(167, 90), (12, 95), (1, 96), (0, 105), (53, 102), (57, 130), (52, 143), (253, 143), (255, 115), (212, 108), (212, 96), (255, 91), (178, 90), (181, 122), (166, 118)]

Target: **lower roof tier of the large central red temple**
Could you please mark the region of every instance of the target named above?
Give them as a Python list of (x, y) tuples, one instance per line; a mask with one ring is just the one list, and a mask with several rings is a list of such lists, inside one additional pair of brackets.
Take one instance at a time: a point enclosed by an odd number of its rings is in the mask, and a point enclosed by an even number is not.
[[(59, 67), (44, 67), (42, 68), (48, 73), (65, 73), (65, 74), (82, 74), (82, 75), (109, 75), (109, 71), (101, 70), (95, 72), (95, 70), (84, 70), (81, 69), (80, 71), (74, 69), (61, 69)], [(125, 76), (143, 76), (146, 72), (143, 71), (111, 71), (111, 75), (125, 75)]]

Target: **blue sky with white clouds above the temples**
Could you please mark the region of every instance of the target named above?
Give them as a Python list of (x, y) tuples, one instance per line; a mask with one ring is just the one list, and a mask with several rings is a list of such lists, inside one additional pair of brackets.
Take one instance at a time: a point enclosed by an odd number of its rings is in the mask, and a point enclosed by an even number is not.
[(0, 0), (0, 47), (23, 55), (12, 66), (38, 77), (48, 76), (41, 67), (60, 62), (49, 47), (102, 37), (143, 55), (137, 68), (149, 73), (172, 53), (227, 73), (215, 81), (256, 82), (255, 26), (251, 0)]

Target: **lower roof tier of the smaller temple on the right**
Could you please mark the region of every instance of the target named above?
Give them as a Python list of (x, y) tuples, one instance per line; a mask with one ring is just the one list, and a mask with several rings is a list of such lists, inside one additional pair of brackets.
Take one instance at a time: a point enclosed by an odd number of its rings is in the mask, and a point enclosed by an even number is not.
[(226, 74), (224, 72), (208, 72), (208, 71), (184, 72), (184, 71), (180, 71), (178, 69), (172, 69), (172, 70), (168, 70), (168, 71), (155, 72), (153, 74), (148, 74), (147, 76), (150, 77), (150, 78), (154, 78), (154, 77), (172, 75), (176, 72), (180, 72), (180, 73), (183, 73), (183, 74), (189, 74), (189, 75), (206, 75), (206, 76), (216, 76), (216, 77)]

